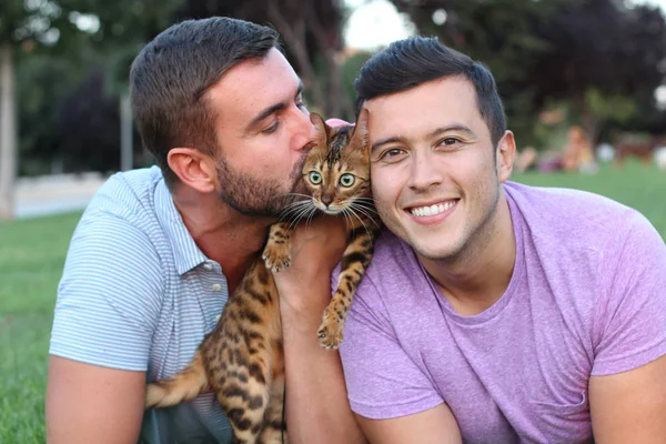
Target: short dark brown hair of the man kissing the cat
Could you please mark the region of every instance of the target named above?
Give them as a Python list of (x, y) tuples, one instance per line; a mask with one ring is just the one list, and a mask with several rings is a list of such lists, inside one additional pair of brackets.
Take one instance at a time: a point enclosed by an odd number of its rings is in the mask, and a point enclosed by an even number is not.
[(275, 30), (231, 18), (186, 20), (161, 32), (137, 56), (130, 71), (132, 111), (143, 145), (155, 157), (169, 185), (172, 148), (216, 149), (216, 115), (206, 90), (235, 64), (262, 59), (279, 47)]

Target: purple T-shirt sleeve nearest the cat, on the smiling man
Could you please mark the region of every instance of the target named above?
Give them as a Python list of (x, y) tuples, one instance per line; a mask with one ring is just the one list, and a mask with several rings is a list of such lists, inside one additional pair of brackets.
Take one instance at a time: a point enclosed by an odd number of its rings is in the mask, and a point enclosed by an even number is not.
[(363, 279), (352, 302), (340, 355), (350, 405), (361, 416), (392, 418), (443, 403), (402, 349), (371, 276)]

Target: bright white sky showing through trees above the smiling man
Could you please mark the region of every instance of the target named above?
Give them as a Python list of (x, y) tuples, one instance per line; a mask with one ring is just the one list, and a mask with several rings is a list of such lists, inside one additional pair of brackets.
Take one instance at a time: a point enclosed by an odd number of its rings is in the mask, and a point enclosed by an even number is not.
[[(627, 0), (629, 3), (657, 4), (666, 13), (666, 0)], [(414, 32), (410, 20), (398, 14), (389, 0), (345, 0), (356, 10), (350, 17), (344, 37), (349, 47), (374, 50)], [(442, 11), (441, 17), (445, 19)]]

